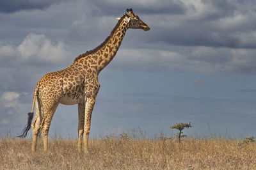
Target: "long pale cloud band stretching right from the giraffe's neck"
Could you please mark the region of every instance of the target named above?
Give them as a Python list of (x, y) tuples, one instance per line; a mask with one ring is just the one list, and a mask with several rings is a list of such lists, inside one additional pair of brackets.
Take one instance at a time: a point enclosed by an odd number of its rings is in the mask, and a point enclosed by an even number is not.
[(113, 70), (147, 72), (255, 74), (256, 49), (172, 47), (169, 50), (120, 49), (110, 65)]

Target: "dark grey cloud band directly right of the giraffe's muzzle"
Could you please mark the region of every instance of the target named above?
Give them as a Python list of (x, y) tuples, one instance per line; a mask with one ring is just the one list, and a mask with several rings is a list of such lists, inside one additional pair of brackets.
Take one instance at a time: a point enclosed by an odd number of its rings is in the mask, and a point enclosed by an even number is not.
[[(166, 42), (170, 45), (207, 46), (255, 49), (253, 33), (241, 31), (217, 31), (209, 26), (183, 25), (182, 27), (154, 27), (151, 42)], [(236, 34), (236, 35), (235, 35)], [(252, 35), (252, 36), (250, 36)]]

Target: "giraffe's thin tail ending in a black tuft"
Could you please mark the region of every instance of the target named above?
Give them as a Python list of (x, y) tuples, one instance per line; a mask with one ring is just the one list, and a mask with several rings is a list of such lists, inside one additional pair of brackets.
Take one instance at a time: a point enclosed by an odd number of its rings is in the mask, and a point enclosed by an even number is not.
[(27, 134), (28, 134), (29, 129), (31, 128), (31, 122), (32, 122), (33, 116), (34, 116), (33, 111), (34, 111), (34, 107), (35, 107), (35, 100), (36, 100), (36, 97), (38, 95), (38, 88), (39, 88), (39, 86), (38, 86), (38, 84), (36, 84), (36, 88), (35, 88), (34, 95), (33, 95), (32, 111), (28, 113), (28, 123), (23, 128), (22, 134), (18, 135), (17, 137), (20, 137), (20, 138), (26, 137)]

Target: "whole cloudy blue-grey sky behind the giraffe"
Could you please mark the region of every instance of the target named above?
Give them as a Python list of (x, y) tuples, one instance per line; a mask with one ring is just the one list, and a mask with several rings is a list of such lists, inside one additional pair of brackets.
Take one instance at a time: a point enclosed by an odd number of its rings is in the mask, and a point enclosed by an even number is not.
[[(256, 135), (256, 4), (252, 0), (0, 1), (0, 137), (20, 134), (33, 90), (94, 49), (132, 8), (129, 29), (99, 75), (91, 137)], [(77, 105), (59, 105), (50, 135), (77, 137)], [(28, 137), (31, 137), (29, 131)]]

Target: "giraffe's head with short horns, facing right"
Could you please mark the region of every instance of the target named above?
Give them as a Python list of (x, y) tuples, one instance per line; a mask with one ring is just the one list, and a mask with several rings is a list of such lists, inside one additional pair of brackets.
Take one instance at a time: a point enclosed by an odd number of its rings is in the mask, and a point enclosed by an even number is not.
[(147, 26), (138, 15), (135, 15), (132, 9), (127, 9), (127, 17), (129, 18), (128, 28), (131, 29), (143, 29), (144, 31), (148, 31), (150, 27)]

